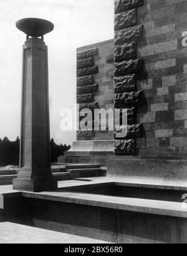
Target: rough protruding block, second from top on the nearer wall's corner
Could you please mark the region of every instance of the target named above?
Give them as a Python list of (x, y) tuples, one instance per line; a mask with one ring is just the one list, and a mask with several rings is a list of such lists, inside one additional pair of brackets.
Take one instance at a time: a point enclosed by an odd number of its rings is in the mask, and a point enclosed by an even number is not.
[(132, 27), (137, 24), (137, 9), (132, 9), (130, 11), (121, 12), (120, 14), (115, 14), (114, 18), (114, 29), (115, 31), (120, 29), (125, 29), (127, 27)]

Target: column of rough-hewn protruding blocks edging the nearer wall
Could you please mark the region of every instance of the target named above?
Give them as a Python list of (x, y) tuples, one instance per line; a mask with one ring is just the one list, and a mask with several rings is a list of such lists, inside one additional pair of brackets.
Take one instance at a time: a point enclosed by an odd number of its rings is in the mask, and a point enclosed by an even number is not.
[[(115, 126), (115, 155), (136, 155), (137, 138), (143, 137), (143, 124), (137, 123), (137, 110), (146, 105), (143, 91), (137, 91), (138, 76), (143, 76), (143, 58), (137, 57), (138, 41), (143, 39), (143, 26), (138, 25), (137, 7), (143, 0), (115, 0), (114, 82), (115, 109), (128, 109), (135, 118)], [(127, 132), (125, 132), (127, 130)]]

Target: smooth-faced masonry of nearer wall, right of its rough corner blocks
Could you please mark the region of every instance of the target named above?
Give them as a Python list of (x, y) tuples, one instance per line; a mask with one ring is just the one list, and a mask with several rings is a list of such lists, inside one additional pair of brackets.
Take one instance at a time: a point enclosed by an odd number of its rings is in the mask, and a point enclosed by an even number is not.
[(138, 7), (144, 37), (138, 57), (145, 62), (145, 79), (137, 82), (147, 107), (138, 109), (145, 136), (137, 139), (140, 155), (187, 155), (187, 1), (144, 0)]

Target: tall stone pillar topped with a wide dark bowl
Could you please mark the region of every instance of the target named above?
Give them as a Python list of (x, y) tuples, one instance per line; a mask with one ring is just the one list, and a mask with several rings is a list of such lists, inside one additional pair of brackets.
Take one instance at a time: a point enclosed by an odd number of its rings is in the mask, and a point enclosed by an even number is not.
[[(47, 24), (50, 23), (40, 19), (17, 23), (17, 27), (26, 32), (27, 40), (23, 46), (20, 170), (13, 180), (15, 190), (57, 189), (50, 169), (48, 58), (43, 40)], [(37, 34), (29, 31), (34, 26)], [(30, 34), (34, 37), (29, 38)]]

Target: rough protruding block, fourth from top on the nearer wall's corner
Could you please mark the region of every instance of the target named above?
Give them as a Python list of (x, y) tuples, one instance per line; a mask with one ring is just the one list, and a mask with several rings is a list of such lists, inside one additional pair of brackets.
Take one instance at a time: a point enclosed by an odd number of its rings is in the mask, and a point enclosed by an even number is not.
[(137, 57), (137, 43), (124, 44), (123, 46), (116, 46), (114, 53), (114, 61), (121, 62), (127, 59), (135, 59)]

